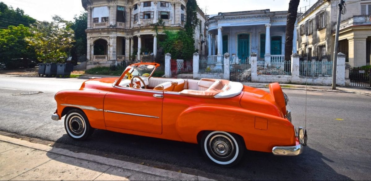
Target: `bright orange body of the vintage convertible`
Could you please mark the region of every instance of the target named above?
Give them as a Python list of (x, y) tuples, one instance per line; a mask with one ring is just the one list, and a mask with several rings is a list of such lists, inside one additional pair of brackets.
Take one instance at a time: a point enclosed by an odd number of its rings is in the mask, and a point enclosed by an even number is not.
[[(216, 99), (120, 86), (129, 69), (120, 78), (91, 79), (79, 90), (58, 92), (58, 118), (78, 108), (86, 114), (91, 127), (119, 133), (199, 143), (204, 131), (223, 130), (240, 135), (248, 150), (263, 152), (272, 152), (275, 146), (300, 144), (286, 117), (285, 98), (278, 83), (269, 85), (270, 93), (243, 86), (236, 96)], [(185, 80), (185, 88), (188, 82)]]

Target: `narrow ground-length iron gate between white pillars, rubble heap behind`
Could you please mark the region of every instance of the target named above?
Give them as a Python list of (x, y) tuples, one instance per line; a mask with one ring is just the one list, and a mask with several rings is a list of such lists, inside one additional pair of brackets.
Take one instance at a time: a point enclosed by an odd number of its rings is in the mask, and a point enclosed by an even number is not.
[(231, 81), (246, 82), (251, 81), (251, 62), (250, 58), (237, 59), (230, 58), (230, 77)]

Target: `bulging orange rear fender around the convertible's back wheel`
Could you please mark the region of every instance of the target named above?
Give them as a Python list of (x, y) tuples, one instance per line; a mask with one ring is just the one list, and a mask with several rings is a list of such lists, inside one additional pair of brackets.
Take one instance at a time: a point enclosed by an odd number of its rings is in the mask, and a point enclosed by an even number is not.
[[(255, 125), (261, 120), (266, 120), (266, 129)], [(239, 134), (248, 150), (272, 152), (272, 148), (277, 145), (295, 145), (295, 131), (288, 120), (241, 107), (189, 107), (180, 114), (175, 128), (181, 139), (189, 143), (197, 143), (197, 134), (210, 130)]]

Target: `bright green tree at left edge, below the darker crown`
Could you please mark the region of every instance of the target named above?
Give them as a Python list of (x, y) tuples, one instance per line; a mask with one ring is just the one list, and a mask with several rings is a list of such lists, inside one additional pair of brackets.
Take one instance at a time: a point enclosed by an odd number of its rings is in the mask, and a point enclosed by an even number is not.
[(32, 33), (22, 24), (0, 29), (0, 62), (9, 65), (12, 58), (35, 59), (35, 49), (26, 42), (27, 37)]

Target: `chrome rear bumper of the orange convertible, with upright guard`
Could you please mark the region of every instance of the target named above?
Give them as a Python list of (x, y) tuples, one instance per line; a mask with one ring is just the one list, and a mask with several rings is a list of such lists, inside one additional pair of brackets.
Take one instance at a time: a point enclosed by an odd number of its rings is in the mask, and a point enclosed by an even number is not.
[(282, 156), (297, 156), (303, 153), (304, 129), (302, 127), (299, 127), (299, 132), (296, 132), (296, 137), (298, 137), (299, 139), (298, 145), (296, 146), (275, 146), (272, 149), (272, 153), (274, 155), (282, 155)]

